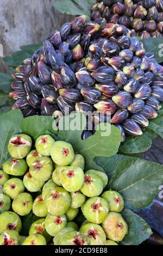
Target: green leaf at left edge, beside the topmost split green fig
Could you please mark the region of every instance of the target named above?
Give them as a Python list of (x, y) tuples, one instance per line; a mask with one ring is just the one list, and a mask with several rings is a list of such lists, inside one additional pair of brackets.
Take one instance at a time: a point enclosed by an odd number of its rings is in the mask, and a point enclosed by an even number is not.
[(8, 143), (12, 135), (21, 132), (20, 123), (23, 115), (20, 110), (11, 110), (7, 113), (0, 114), (0, 167), (10, 157), (8, 153)]

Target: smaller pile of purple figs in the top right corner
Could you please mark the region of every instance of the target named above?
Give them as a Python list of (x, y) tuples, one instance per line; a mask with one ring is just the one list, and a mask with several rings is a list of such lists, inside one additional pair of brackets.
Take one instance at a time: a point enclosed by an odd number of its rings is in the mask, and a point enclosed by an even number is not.
[(162, 38), (163, 0), (97, 0), (91, 8), (91, 19), (110, 22), (132, 29), (141, 38)]

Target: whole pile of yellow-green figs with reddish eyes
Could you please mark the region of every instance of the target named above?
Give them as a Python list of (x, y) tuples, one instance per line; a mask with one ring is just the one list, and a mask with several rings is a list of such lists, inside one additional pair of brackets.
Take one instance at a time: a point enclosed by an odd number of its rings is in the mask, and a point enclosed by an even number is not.
[[(11, 158), (0, 170), (0, 245), (118, 245), (128, 226), (122, 196), (105, 190), (108, 176), (84, 173), (84, 157), (50, 135), (32, 145), (25, 134), (9, 141)], [(32, 211), (37, 220), (22, 236), (22, 217)]]

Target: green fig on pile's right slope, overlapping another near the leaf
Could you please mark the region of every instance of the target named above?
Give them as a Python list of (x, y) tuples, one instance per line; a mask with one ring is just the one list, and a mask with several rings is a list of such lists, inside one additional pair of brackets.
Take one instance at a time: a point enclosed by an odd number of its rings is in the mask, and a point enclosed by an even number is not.
[(96, 174), (85, 174), (80, 190), (86, 197), (97, 197), (103, 191), (103, 182)]

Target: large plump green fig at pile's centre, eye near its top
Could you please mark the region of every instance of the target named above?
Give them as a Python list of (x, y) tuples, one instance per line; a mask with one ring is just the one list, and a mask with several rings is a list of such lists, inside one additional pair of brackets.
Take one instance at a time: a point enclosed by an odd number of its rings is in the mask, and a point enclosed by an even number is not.
[(62, 187), (54, 187), (45, 196), (45, 206), (49, 214), (63, 215), (70, 208), (70, 194)]

